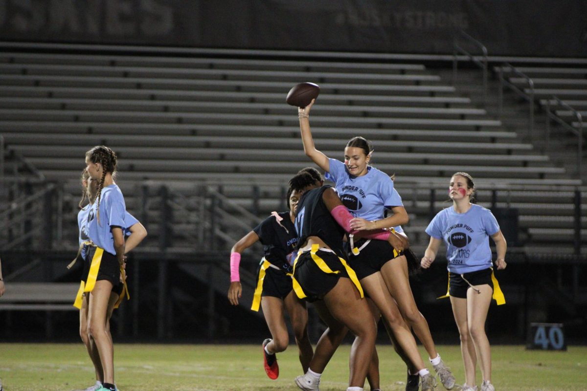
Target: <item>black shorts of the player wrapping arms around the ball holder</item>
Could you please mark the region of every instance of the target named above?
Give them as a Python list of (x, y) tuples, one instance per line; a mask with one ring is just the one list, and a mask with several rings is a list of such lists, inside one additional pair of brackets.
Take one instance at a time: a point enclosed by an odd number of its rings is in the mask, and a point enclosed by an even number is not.
[(340, 277), (349, 278), (345, 266), (335, 253), (319, 249), (316, 256), (322, 259), (330, 270), (339, 273), (324, 273), (312, 259), (311, 251), (303, 251), (296, 261), (294, 277), (306, 294), (305, 300), (309, 302), (322, 300), (335, 287)]

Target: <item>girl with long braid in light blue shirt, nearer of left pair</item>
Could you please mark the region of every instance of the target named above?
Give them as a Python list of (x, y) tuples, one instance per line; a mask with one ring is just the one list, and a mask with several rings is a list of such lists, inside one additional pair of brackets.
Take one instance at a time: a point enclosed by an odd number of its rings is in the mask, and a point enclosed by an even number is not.
[[(124, 281), (124, 234), (126, 205), (119, 187), (114, 183), (116, 154), (103, 145), (86, 152), (86, 169), (96, 179), (96, 201), (87, 216), (87, 236), (92, 247), (92, 263), (84, 288), (89, 293), (87, 328), (90, 344), (96, 346), (102, 365), (104, 382), (100, 391), (116, 390), (114, 386), (114, 348), (106, 329), (108, 302), (112, 288)], [(89, 256), (89, 255), (88, 255)]]

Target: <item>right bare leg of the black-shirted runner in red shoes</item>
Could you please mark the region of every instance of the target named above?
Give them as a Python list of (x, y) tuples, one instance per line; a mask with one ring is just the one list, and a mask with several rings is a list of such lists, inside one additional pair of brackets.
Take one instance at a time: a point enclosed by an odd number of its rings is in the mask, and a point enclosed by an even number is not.
[(292, 290), (284, 300), (285, 309), (294, 328), (295, 342), (298, 345), (299, 362), (302, 364), (303, 372), (308, 371), (310, 360), (314, 355), (312, 344), (308, 336), (308, 310), (306, 303), (298, 298)]

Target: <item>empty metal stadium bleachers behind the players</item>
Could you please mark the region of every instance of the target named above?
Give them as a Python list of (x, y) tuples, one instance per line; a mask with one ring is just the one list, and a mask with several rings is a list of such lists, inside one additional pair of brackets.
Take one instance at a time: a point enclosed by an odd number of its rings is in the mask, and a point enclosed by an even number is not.
[[(551, 79), (535, 68), (546, 81), (537, 87), (559, 88), (548, 80), (566, 75), (581, 80), (580, 69), (556, 67)], [(430, 210), (423, 189), (441, 193), (453, 172), (471, 172), (486, 189), (580, 184), (424, 64), (12, 51), (0, 53), (0, 70), (8, 150), (49, 180), (67, 182), (72, 200), (84, 152), (106, 144), (119, 154), (123, 181), (203, 181), (265, 215), (281, 205), (289, 176), (309, 165), (295, 108), (285, 104), (298, 81), (321, 85), (311, 116), (319, 149), (336, 157), (355, 135), (374, 142), (375, 165), (399, 178), (413, 216), (406, 229), (417, 244)], [(254, 186), (268, 190), (255, 193)], [(548, 236), (539, 224), (560, 210), (508, 194), (528, 240)], [(561, 238), (569, 217), (556, 220)]]

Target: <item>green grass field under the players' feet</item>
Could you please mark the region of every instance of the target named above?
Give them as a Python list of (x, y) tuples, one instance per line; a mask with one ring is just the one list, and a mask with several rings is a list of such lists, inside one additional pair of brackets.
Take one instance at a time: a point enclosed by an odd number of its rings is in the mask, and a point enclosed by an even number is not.
[[(281, 373), (277, 380), (269, 380), (265, 375), (260, 344), (118, 344), (114, 348), (116, 383), (121, 391), (298, 391), (293, 379), (302, 372), (293, 345), (278, 355)], [(322, 391), (346, 390), (349, 348), (343, 345), (336, 352), (322, 376)], [(377, 346), (377, 349), (382, 390), (403, 390), (406, 367), (391, 346)], [(462, 383), (458, 346), (438, 346), (438, 351), (453, 368), (457, 383)], [(587, 390), (585, 346), (570, 346), (566, 352), (493, 346), (492, 359), (497, 391)], [(0, 378), (5, 391), (71, 391), (95, 381), (81, 343), (0, 344)], [(477, 379), (481, 381), (479, 373)], [(437, 390), (444, 388), (439, 385)]]

